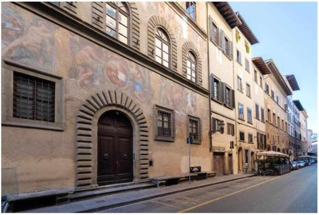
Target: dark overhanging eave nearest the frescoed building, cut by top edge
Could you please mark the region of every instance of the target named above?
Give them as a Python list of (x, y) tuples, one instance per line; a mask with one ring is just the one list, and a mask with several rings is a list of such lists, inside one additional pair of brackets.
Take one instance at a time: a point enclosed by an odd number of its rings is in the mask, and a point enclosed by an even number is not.
[(233, 8), (228, 4), (228, 2), (212, 2), (219, 13), (224, 17), (226, 22), (231, 28), (241, 24), (241, 21), (233, 11)]

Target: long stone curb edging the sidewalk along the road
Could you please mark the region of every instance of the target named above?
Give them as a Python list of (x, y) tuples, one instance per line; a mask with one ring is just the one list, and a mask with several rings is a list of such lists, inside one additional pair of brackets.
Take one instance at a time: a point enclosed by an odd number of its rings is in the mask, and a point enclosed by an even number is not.
[(254, 177), (254, 176), (256, 176), (256, 175), (249, 175), (249, 176), (244, 176), (244, 177), (235, 178), (235, 179), (228, 179), (228, 180), (225, 180), (225, 181), (213, 182), (213, 183), (209, 183), (209, 184), (199, 185), (199, 186), (196, 186), (196, 187), (182, 188), (182, 189), (179, 189), (179, 190), (168, 191), (168, 192), (163, 193), (163, 194), (153, 195), (153, 196), (144, 197), (144, 198), (140, 198), (140, 199), (135, 199), (135, 200), (127, 201), (127, 202), (121, 202), (121, 203), (117, 203), (117, 204), (105, 205), (105, 206), (101, 206), (101, 207), (93, 208), (93, 209), (89, 209), (89, 210), (84, 210), (84, 211), (77, 211), (77, 213), (98, 212), (98, 211), (102, 211), (102, 210), (107, 210), (107, 209), (111, 209), (111, 208), (120, 207), (120, 206), (123, 206), (123, 205), (128, 205), (128, 204), (142, 202), (142, 201), (146, 201), (146, 200), (150, 200), (150, 199), (155, 199), (155, 198), (163, 197), (163, 196), (166, 196), (166, 195), (172, 195), (172, 194), (181, 193), (181, 192), (185, 192), (185, 191), (189, 191), (189, 190), (199, 189), (199, 188), (203, 188), (203, 187), (209, 187), (209, 186), (212, 186), (212, 185), (222, 184), (222, 183), (235, 181), (235, 180), (239, 180), (239, 179), (251, 178), (251, 177)]

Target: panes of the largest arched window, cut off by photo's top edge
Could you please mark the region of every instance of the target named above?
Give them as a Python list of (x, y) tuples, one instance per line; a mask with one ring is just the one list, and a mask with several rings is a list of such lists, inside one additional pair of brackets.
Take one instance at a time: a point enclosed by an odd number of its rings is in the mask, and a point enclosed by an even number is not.
[(129, 44), (129, 10), (124, 2), (107, 2), (106, 33), (122, 43)]

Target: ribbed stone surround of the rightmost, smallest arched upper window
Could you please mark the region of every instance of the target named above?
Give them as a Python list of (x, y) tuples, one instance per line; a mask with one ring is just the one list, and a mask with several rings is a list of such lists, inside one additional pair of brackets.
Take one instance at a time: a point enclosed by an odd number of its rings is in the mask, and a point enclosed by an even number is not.
[(192, 51), (197, 58), (197, 75), (198, 75), (198, 83), (202, 85), (203, 82), (203, 75), (202, 75), (202, 60), (200, 54), (194, 45), (193, 42), (185, 42), (182, 47), (182, 75), (186, 78), (187, 77), (187, 52)]

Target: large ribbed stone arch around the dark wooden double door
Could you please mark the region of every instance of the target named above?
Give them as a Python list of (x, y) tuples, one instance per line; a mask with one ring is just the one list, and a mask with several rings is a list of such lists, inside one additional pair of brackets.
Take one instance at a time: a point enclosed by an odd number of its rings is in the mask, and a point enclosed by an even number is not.
[[(129, 114), (135, 129), (135, 152), (139, 179), (148, 178), (148, 126), (142, 109), (137, 102), (120, 91), (102, 91), (89, 96), (79, 108), (76, 125), (76, 186), (94, 185), (97, 167), (94, 166), (93, 149), (97, 145), (97, 121), (99, 110), (116, 108)], [(96, 132), (96, 134), (94, 133)], [(133, 138), (134, 139), (134, 138)], [(138, 157), (139, 155), (139, 157)], [(135, 176), (136, 176), (135, 175)]]

